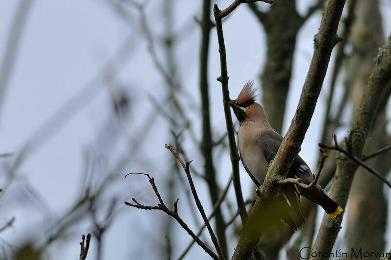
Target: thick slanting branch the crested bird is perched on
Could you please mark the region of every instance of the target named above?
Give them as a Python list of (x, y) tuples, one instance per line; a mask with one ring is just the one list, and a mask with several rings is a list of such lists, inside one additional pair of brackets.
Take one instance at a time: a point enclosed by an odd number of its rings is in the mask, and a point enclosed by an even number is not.
[(341, 0), (327, 1), (319, 33), (314, 39), (315, 50), (296, 114), (282, 140), (277, 155), (269, 166), (260, 188), (260, 196), (257, 198), (253, 212), (243, 228), (232, 257), (233, 260), (250, 259), (260, 239), (262, 229), (271, 218), (270, 212), (273, 212), (273, 201), (281, 187), (281, 184), (278, 184), (277, 181), (286, 177), (291, 162), (300, 151), (300, 145), (304, 140), (304, 135), (322, 88), (331, 51), (340, 40), (336, 33), (344, 4), (345, 1)]

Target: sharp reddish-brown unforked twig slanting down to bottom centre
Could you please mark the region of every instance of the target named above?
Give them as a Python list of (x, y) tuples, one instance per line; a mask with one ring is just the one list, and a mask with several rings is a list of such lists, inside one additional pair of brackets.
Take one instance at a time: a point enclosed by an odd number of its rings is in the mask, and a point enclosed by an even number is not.
[(202, 219), (204, 220), (204, 222), (205, 222), (205, 224), (206, 224), (206, 227), (208, 228), (208, 231), (209, 231), (209, 234), (210, 234), (210, 236), (211, 236), (212, 242), (213, 242), (213, 244), (215, 245), (215, 248), (216, 248), (216, 250), (217, 250), (218, 258), (219, 258), (219, 259), (224, 259), (224, 256), (223, 256), (223, 254), (222, 254), (222, 252), (221, 252), (220, 245), (218, 244), (217, 238), (216, 238), (216, 236), (215, 236), (215, 233), (213, 232), (213, 229), (212, 229), (212, 227), (211, 227), (211, 224), (209, 223), (209, 220), (208, 220), (208, 218), (206, 217), (204, 208), (203, 208), (203, 206), (202, 206), (202, 204), (201, 204), (201, 201), (200, 201), (199, 198), (198, 198), (197, 191), (195, 190), (195, 186), (194, 186), (194, 183), (193, 183), (192, 176), (190, 175), (189, 164), (190, 164), (192, 161), (187, 161), (186, 164), (185, 164), (185, 163), (183, 162), (183, 160), (180, 158), (178, 152), (174, 149), (173, 146), (167, 145), (167, 144), (166, 144), (166, 148), (170, 150), (170, 152), (176, 157), (176, 159), (177, 159), (177, 160), (180, 162), (180, 164), (182, 165), (183, 170), (185, 170), (187, 179), (189, 180), (190, 189), (192, 190), (192, 194), (193, 194), (193, 197), (194, 197), (194, 200), (195, 200), (195, 204), (197, 205), (198, 210), (199, 210), (199, 213), (201, 213)]

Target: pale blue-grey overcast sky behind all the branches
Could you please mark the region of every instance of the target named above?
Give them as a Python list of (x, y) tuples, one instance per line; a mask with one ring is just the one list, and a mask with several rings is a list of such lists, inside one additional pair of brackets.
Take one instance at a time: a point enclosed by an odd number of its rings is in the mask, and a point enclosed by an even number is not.
[[(17, 52), (14, 66), (6, 86), (4, 97), (0, 103), (0, 153), (12, 153), (10, 158), (0, 158), (9, 161), (18, 156), (26, 143), (38, 140), (33, 152), (26, 155), (26, 159), (17, 172), (15, 184), (7, 190), (9, 194), (19, 194), (13, 200), (4, 195), (0, 199), (0, 223), (15, 217), (12, 228), (2, 232), (1, 238), (10, 245), (20, 247), (30, 237), (42, 238), (47, 228), (45, 216), (37, 206), (40, 202), (22, 193), (23, 183), (29, 183), (38, 191), (41, 201), (50, 209), (53, 216), (62, 216), (73, 203), (80, 198), (83, 181), (84, 155), (86, 151), (94, 157), (112, 153), (121, 154), (126, 150), (124, 137), (130, 135), (137, 139), (137, 133), (142, 132), (142, 126), (148, 121), (147, 116), (154, 108), (151, 106), (150, 96), (162, 101), (166, 93), (164, 79), (156, 70), (148, 51), (147, 41), (140, 31), (140, 21), (137, 11), (132, 14), (129, 22), (121, 20), (104, 0), (84, 1), (55, 1), (55, 0), (23, 0), (23, 4), (32, 1), (31, 8), (23, 27), (20, 42), (16, 45)], [(5, 57), (7, 40), (15, 11), (21, 0), (5, 0), (0, 2), (0, 61)], [(230, 0), (217, 1), (222, 9), (229, 5)], [(301, 0), (299, 11), (304, 13), (306, 7), (314, 2)], [(391, 31), (391, 4), (381, 1), (381, 12), (385, 36)], [(157, 39), (162, 35), (162, 1), (151, 0), (147, 6), (147, 16), (152, 34)], [(182, 95), (183, 104), (189, 114), (199, 139), (199, 91), (198, 91), (198, 49), (200, 42), (200, 28), (194, 17), (200, 18), (201, 3), (199, 1), (174, 0), (174, 32), (181, 32), (183, 38), (175, 46), (175, 62), (178, 64), (178, 75), (183, 86), (191, 97)], [(300, 98), (306, 71), (313, 52), (313, 36), (317, 33), (321, 13), (315, 13), (301, 29), (297, 49), (294, 57), (293, 77), (287, 103), (287, 111), (283, 125), (283, 134), (287, 130)], [(224, 37), (227, 49), (228, 74), (231, 98), (235, 98), (243, 86), (250, 79), (259, 84), (258, 74), (261, 62), (265, 55), (264, 34), (249, 9), (239, 6), (223, 23)], [(185, 28), (185, 30), (183, 30)], [(125, 46), (125, 47), (124, 47)], [(116, 55), (119, 50), (121, 55)], [(159, 59), (164, 60), (162, 51), (158, 51)], [(224, 114), (222, 110), (221, 86), (216, 80), (219, 76), (219, 56), (216, 31), (211, 32), (209, 57), (209, 84), (211, 97), (212, 125), (214, 137), (225, 131)], [(109, 66), (109, 75), (102, 75), (102, 68), (108, 60), (115, 57), (114, 64)], [(331, 63), (332, 64), (332, 63)], [(325, 80), (327, 86), (328, 74)], [(108, 77), (114, 77), (107, 84)], [(342, 80), (339, 80), (341, 83)], [(130, 119), (124, 120), (126, 125), (116, 124), (110, 117), (111, 93), (113, 89), (122, 87), (130, 93)], [(82, 91), (82, 92), (80, 92)], [(81, 93), (81, 94), (80, 94)], [(314, 168), (318, 157), (317, 142), (322, 127), (322, 115), (326, 89), (322, 90), (318, 105), (310, 128), (302, 145), (301, 156)], [(338, 95), (338, 93), (337, 93)], [(75, 101), (75, 96), (82, 96)], [(69, 100), (74, 103), (68, 105), (69, 114), (56, 114)], [(58, 130), (49, 127), (42, 132), (43, 124), (56, 115), (55, 122)], [(348, 120), (348, 115), (347, 120)], [(389, 118), (389, 117), (388, 117)], [(50, 123), (53, 121), (49, 121)], [(102, 143), (101, 129), (112, 127), (112, 132), (119, 137), (112, 139), (113, 143)], [(111, 128), (110, 128), (111, 129)], [(52, 131), (53, 130), (53, 131)], [(38, 131), (38, 132), (37, 132)], [(346, 129), (339, 134), (343, 136)], [(53, 134), (53, 135), (52, 135)], [(202, 169), (201, 158), (193, 151), (189, 134), (185, 135), (184, 148), (188, 159), (194, 160), (196, 168)], [(172, 165), (167, 163), (171, 159), (164, 144), (172, 140), (170, 128), (163, 118), (154, 122), (152, 133), (147, 136), (144, 144), (134, 147), (134, 155), (130, 165), (121, 176), (132, 171), (150, 172), (156, 183), (164, 183), (164, 179)], [(109, 157), (97, 171), (112, 170), (110, 165), (115, 158)], [(219, 172), (230, 172), (229, 154), (218, 160)], [(8, 165), (5, 163), (4, 165)], [(4, 166), (6, 167), (6, 166)], [(93, 171), (93, 169), (90, 171)], [(229, 176), (218, 176), (221, 186), (224, 186)], [(3, 181), (3, 178), (0, 179)], [(253, 192), (251, 180), (241, 168), (241, 181), (244, 197)], [(132, 177), (131, 180), (121, 180), (118, 190), (112, 191), (120, 198), (118, 208), (123, 208), (117, 215), (113, 225), (105, 236), (103, 259), (127, 259), (130, 254), (139, 254), (148, 259), (151, 245), (161, 240), (158, 236), (159, 221), (168, 218), (160, 212), (145, 212), (122, 204), (123, 198), (130, 200), (134, 196), (140, 201), (156, 203), (150, 186), (144, 177)], [(163, 189), (163, 185), (162, 189)], [(206, 191), (205, 183), (196, 181), (199, 193)], [(1, 184), (3, 185), (3, 184)], [(134, 192), (136, 190), (137, 192)], [(164, 192), (162, 192), (164, 194)], [(142, 200), (142, 196), (149, 199)], [(230, 198), (234, 201), (233, 190)], [(185, 206), (184, 192), (178, 191), (179, 211)], [(202, 198), (207, 212), (210, 211), (209, 199)], [(12, 203), (10, 201), (13, 201)], [(169, 203), (169, 202), (167, 202)], [(171, 203), (171, 202), (170, 202)], [(10, 207), (12, 205), (12, 207)], [(236, 206), (236, 204), (235, 204)], [(194, 227), (189, 212), (183, 213), (183, 218)], [(322, 213), (323, 214), (323, 213)], [(320, 222), (320, 221), (318, 221)], [(390, 221), (389, 221), (390, 222)], [(191, 238), (175, 223), (175, 253), (187, 245)], [(89, 231), (87, 223), (82, 223), (65, 240), (54, 242), (48, 249), (49, 259), (68, 260), (78, 257), (81, 235)], [(390, 234), (390, 232), (388, 232)], [(204, 238), (207, 236), (204, 236)], [(339, 237), (342, 237), (340, 233)], [(151, 239), (153, 238), (153, 239)], [(391, 236), (388, 235), (387, 248), (391, 246)], [(91, 251), (87, 259), (94, 259), (96, 243), (92, 240)], [(160, 241), (162, 246), (165, 241)], [(236, 245), (235, 240), (229, 241), (230, 253)], [(145, 252), (142, 252), (144, 251)], [(187, 259), (208, 259), (196, 245)], [(152, 255), (155, 254), (152, 252)], [(158, 256), (154, 256), (158, 257)]]

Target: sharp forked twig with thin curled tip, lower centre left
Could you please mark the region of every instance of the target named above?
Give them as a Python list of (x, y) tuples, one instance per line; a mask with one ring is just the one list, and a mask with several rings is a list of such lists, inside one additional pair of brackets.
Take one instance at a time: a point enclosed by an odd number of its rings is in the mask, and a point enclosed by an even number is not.
[[(139, 208), (139, 209), (145, 209), (145, 210), (161, 210), (161, 211), (164, 211), (166, 214), (170, 215), (171, 217), (173, 217), (176, 221), (178, 221), (178, 223), (181, 225), (181, 227), (183, 229), (186, 230), (186, 232), (197, 242), (197, 244), (199, 246), (202, 247), (202, 249), (204, 249), (204, 251), (206, 253), (208, 253), (213, 259), (215, 260), (219, 260), (219, 258), (217, 257), (217, 255), (211, 250), (209, 249), (205, 243), (199, 239), (199, 237), (197, 237), (194, 232), (188, 227), (188, 225), (179, 217), (178, 215), (178, 206), (177, 206), (177, 203), (178, 203), (178, 200), (179, 199), (176, 199), (174, 201), (174, 210), (171, 210), (169, 209), (163, 202), (163, 199), (161, 198), (160, 196), (160, 193), (159, 191), (157, 190), (157, 187), (155, 185), (155, 181), (153, 178), (150, 177), (149, 174), (145, 174), (145, 173), (130, 173), (130, 174), (142, 174), (142, 175), (145, 175), (148, 177), (150, 183), (151, 183), (151, 186), (152, 186), (152, 189), (153, 191), (155, 192), (155, 195), (157, 197), (157, 199), (159, 200), (159, 203), (157, 204), (157, 206), (146, 206), (146, 205), (142, 205), (140, 203), (137, 202), (137, 200), (135, 200), (134, 198), (132, 198), (132, 200), (136, 203), (136, 204), (133, 204), (131, 202), (128, 202), (128, 201), (125, 201), (125, 204), (128, 205), (128, 206), (132, 206), (132, 207), (135, 207), (135, 208)], [(129, 175), (129, 174), (128, 174)], [(127, 175), (127, 176), (128, 176)], [(127, 177), (125, 176), (125, 178)]]

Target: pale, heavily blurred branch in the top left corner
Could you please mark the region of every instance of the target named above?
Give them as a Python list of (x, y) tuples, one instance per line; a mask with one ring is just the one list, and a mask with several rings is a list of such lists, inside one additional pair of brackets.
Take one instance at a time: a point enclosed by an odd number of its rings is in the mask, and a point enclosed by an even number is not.
[(34, 0), (20, 0), (9, 28), (3, 60), (0, 65), (0, 114), (6, 88), (12, 76), (22, 33)]

